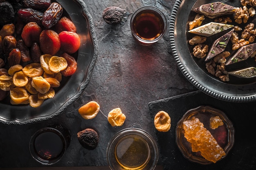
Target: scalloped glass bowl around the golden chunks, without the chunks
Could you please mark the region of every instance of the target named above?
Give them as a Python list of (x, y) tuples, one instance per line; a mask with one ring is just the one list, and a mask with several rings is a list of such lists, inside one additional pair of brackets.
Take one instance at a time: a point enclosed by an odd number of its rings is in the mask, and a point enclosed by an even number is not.
[[(223, 125), (219, 126), (217, 129), (210, 128), (210, 118), (213, 116), (219, 116), (223, 121)], [(192, 162), (197, 162), (204, 165), (213, 163), (204, 159), (200, 152), (192, 152), (191, 144), (187, 142), (186, 138), (184, 137), (184, 129), (182, 128), (183, 122), (185, 120), (193, 120), (195, 118), (198, 118), (200, 122), (204, 124), (204, 127), (211, 132), (213, 137), (217, 140), (218, 144), (226, 153), (226, 155), (221, 159), (225, 158), (231, 148), (234, 146), (235, 129), (233, 123), (229, 120), (225, 113), (210, 106), (199, 106), (186, 111), (184, 116), (177, 123), (176, 144), (182, 152), (182, 155)]]

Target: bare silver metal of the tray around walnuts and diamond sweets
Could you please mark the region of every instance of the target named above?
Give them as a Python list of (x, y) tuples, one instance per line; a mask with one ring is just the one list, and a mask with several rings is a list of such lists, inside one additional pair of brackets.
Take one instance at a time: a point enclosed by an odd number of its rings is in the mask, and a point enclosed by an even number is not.
[[(229, 74), (229, 81), (223, 81), (223, 79), (216, 77), (215, 75), (212, 75), (210, 72), (208, 72), (206, 68), (206, 63), (208, 63), (209, 60), (206, 61), (206, 57), (196, 58), (193, 54), (193, 48), (195, 46), (189, 44), (189, 40), (191, 40), (196, 34), (191, 33), (189, 29), (189, 23), (192, 22), (195, 19), (195, 16), (197, 15), (194, 9), (204, 4), (213, 4), (214, 2), (221, 2), (223, 4), (227, 4), (235, 8), (241, 7), (243, 9), (243, 5), (241, 5), (240, 0), (176, 0), (173, 7), (170, 22), (170, 39), (173, 57), (175, 58), (177, 65), (179, 66), (184, 76), (186, 76), (186, 78), (202, 92), (225, 101), (255, 101), (256, 77), (239, 78), (237, 76)], [(248, 9), (250, 7), (250, 5), (247, 5)], [(216, 9), (212, 8), (211, 10), (214, 11)], [(184, 11), (190, 12), (185, 13)], [(248, 24), (254, 22), (255, 16), (249, 17), (246, 23), (242, 22), (238, 24), (237, 22), (235, 22), (235, 14), (236, 12), (224, 16), (230, 17), (231, 19), (231, 22), (228, 22), (227, 24), (239, 26), (240, 28), (242, 28), (241, 31), (236, 31), (239, 34), (240, 38), (241, 33), (244, 31), (245, 27)], [(202, 20), (202, 26), (209, 24), (210, 22), (214, 22), (214, 19), (205, 16), (205, 19)], [(213, 50), (210, 51), (212, 44), (216, 42), (216, 40), (218, 40), (220, 37), (224, 36), (226, 33), (231, 31), (231, 29), (233, 29), (233, 27), (227, 30), (221, 30), (220, 33), (207, 37), (207, 41), (205, 42), (205, 44), (209, 45), (209, 51), (207, 52), (207, 54), (215, 53), (215, 51)], [(220, 43), (224, 44), (225, 42)], [(253, 43), (255, 42), (252, 42), (250, 44)], [(229, 57), (227, 57), (228, 61), (228, 59), (233, 57), (235, 53), (238, 52), (239, 49), (233, 50), (231, 41), (228, 41), (227, 44), (223, 44), (219, 44), (219, 46), (225, 46), (225, 52), (230, 52)], [(249, 67), (256, 67), (254, 57), (249, 57), (248, 59), (238, 63), (226, 65), (225, 70), (227, 72), (232, 72), (235, 70), (240, 70)]]

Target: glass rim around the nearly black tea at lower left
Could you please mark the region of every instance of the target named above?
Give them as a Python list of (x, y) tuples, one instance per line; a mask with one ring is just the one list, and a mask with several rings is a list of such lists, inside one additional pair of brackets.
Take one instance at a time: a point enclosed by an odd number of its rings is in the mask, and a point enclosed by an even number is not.
[[(61, 151), (61, 155), (59, 157), (57, 157), (56, 159), (50, 159), (50, 160), (45, 160), (45, 159), (42, 159), (40, 157), (38, 157), (36, 155), (36, 150), (34, 148), (34, 141), (36, 139), (36, 137), (38, 137), (38, 135), (44, 133), (44, 132), (54, 132), (56, 133), (59, 137), (61, 137), (62, 141), (64, 142), (63, 144), (63, 150)], [(38, 131), (36, 131), (32, 136), (31, 136), (31, 139), (29, 141), (29, 151), (30, 151), (30, 154), (31, 156), (36, 160), (38, 161), (39, 163), (43, 164), (43, 165), (52, 165), (58, 161), (61, 160), (61, 158), (63, 157), (63, 155), (65, 154), (66, 152), (66, 149), (67, 149), (67, 141), (65, 140), (65, 137), (64, 135), (61, 133), (61, 131), (59, 131), (58, 129), (55, 129), (55, 128), (52, 128), (52, 127), (45, 127), (45, 128), (42, 128), (42, 129), (39, 129)]]

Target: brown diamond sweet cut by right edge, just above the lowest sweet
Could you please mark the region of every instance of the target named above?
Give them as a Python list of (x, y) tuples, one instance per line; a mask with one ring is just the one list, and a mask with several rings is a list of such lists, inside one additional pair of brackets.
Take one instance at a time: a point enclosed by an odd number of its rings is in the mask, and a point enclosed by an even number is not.
[(232, 57), (230, 57), (227, 60), (226, 65), (244, 61), (248, 59), (252, 55), (252, 53), (254, 53), (255, 51), (256, 51), (256, 43), (243, 46)]

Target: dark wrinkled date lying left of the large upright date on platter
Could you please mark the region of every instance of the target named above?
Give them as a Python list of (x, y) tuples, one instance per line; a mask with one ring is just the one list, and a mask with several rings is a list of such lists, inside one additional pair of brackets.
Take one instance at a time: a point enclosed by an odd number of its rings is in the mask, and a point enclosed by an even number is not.
[(43, 13), (32, 8), (19, 9), (18, 17), (22, 19), (24, 22), (36, 22), (38, 25), (41, 25)]

